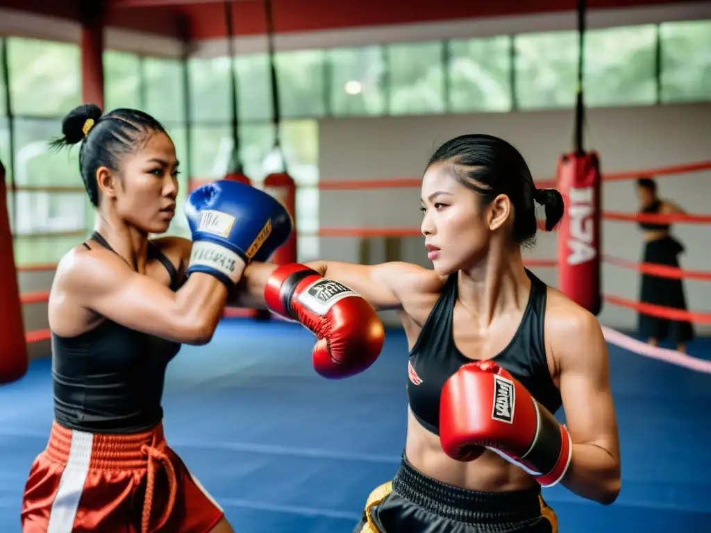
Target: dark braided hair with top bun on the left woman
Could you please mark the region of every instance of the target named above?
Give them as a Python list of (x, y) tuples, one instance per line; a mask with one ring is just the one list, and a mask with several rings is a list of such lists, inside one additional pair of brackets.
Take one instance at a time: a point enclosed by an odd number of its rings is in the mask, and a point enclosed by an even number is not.
[(50, 144), (50, 149), (81, 143), (79, 171), (89, 200), (99, 205), (96, 171), (105, 166), (114, 172), (121, 168), (123, 156), (136, 151), (146, 137), (156, 131), (165, 133), (164, 126), (151, 115), (137, 109), (114, 109), (102, 115), (95, 104), (83, 104), (72, 109), (62, 120), (61, 139)]

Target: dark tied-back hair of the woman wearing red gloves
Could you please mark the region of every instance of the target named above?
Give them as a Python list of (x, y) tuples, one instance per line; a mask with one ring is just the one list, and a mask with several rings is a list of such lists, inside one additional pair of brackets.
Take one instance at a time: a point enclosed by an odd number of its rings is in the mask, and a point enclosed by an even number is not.
[(510, 198), (514, 213), (511, 237), (518, 244), (535, 241), (538, 222), (535, 204), (545, 208), (545, 230), (552, 230), (563, 216), (563, 198), (555, 189), (538, 189), (523, 156), (508, 142), (491, 135), (461, 135), (439, 146), (429, 158), (449, 163), (459, 183), (475, 190), (488, 205), (497, 195)]

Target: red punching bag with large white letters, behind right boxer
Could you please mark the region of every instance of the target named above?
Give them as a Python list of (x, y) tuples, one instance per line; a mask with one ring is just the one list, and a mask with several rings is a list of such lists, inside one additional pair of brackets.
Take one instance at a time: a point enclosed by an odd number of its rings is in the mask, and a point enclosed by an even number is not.
[(558, 289), (597, 315), (602, 310), (597, 153), (565, 154), (558, 161), (556, 179), (565, 200), (558, 226)]

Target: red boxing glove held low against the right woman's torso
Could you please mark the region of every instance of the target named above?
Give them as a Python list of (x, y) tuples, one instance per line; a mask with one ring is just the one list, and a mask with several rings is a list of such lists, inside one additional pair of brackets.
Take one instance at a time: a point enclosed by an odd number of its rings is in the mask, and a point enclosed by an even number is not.
[(481, 446), (489, 448), (543, 487), (563, 478), (572, 457), (566, 427), (493, 361), (467, 363), (444, 384), (439, 440), (458, 461), (471, 460)]

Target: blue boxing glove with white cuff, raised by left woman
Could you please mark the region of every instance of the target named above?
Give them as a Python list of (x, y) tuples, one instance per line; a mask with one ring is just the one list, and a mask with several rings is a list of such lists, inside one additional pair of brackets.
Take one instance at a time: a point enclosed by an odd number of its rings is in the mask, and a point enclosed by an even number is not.
[(185, 204), (193, 249), (192, 272), (211, 274), (228, 289), (255, 257), (269, 257), (287, 241), (292, 217), (278, 200), (237, 181), (220, 180), (196, 188)]

